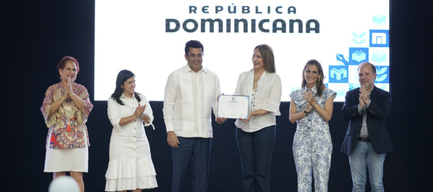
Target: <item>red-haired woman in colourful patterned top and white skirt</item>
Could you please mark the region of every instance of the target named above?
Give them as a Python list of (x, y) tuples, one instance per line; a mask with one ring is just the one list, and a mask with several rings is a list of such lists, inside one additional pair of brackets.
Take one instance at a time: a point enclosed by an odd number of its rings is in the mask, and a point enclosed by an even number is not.
[(93, 105), (86, 87), (74, 83), (80, 70), (75, 58), (63, 57), (57, 70), (60, 82), (48, 87), (40, 107), (49, 127), (44, 172), (53, 172), (53, 179), (70, 172), (84, 192), (90, 146), (85, 123)]

